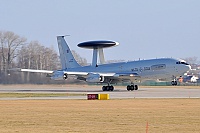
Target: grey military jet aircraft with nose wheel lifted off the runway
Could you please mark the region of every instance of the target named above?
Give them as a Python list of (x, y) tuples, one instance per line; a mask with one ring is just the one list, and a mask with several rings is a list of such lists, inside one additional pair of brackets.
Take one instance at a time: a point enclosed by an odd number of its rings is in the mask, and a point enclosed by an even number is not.
[[(107, 86), (102, 87), (103, 91), (113, 91), (114, 87), (111, 84), (130, 82), (130, 85), (127, 86), (127, 90), (129, 91), (138, 90), (138, 86), (134, 84), (137, 81), (160, 79), (172, 81), (172, 85), (177, 85), (176, 79), (191, 68), (185, 61), (173, 58), (138, 60), (111, 64), (102, 63), (97, 65), (95, 63), (98, 47), (94, 47), (92, 65), (80, 66), (73, 57), (64, 36), (58, 36), (57, 41), (62, 70), (20, 69), (20, 71), (47, 73), (50, 74), (51, 79), (54, 80), (63, 80), (75, 76), (77, 79), (89, 83), (107, 83)], [(99, 42), (97, 41), (96, 43)], [(113, 44), (116, 42), (103, 41), (103, 43), (103, 45), (105, 45), (106, 43)], [(99, 54), (101, 54), (100, 58), (103, 62), (104, 57), (102, 58), (102, 53), (102, 49), (99, 49)]]

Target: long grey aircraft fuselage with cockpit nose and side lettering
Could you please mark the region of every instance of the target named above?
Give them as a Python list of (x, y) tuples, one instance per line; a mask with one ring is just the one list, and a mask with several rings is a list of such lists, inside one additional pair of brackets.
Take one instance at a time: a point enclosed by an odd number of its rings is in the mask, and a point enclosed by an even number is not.
[[(137, 73), (140, 80), (171, 80), (181, 76), (190, 69), (189, 64), (173, 58), (138, 60), (121, 63), (102, 64), (97, 66), (84, 66), (66, 69), (66, 71), (79, 71), (88, 73)], [(134, 77), (134, 76), (133, 76)], [(132, 78), (135, 80), (135, 78)]]

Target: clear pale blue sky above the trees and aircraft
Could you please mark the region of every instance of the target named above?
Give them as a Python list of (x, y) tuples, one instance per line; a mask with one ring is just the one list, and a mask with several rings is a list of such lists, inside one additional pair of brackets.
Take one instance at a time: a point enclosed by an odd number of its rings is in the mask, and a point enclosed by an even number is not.
[(106, 60), (200, 60), (200, 0), (0, 0), (0, 30), (58, 51), (56, 36), (92, 60), (90, 40), (112, 40)]

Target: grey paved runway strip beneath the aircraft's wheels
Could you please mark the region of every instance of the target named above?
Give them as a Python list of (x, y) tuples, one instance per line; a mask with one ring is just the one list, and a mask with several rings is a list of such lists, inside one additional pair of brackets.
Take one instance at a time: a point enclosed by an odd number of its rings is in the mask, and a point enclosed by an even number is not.
[(67, 93), (82, 96), (0, 98), (0, 100), (20, 99), (87, 99), (87, 94), (106, 93), (110, 99), (130, 98), (200, 98), (199, 87), (140, 87), (137, 91), (127, 91), (125, 86), (117, 86), (113, 92), (101, 90), (101, 86), (88, 85), (11, 85), (0, 86), (0, 93)]

